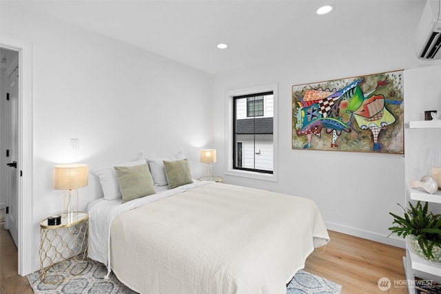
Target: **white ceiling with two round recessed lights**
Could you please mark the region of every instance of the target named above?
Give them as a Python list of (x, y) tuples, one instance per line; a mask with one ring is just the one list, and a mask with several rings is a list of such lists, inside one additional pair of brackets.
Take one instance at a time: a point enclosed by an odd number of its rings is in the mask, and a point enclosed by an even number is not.
[[(210, 74), (409, 31), (424, 0), (22, 1), (34, 11)], [(334, 6), (324, 16), (315, 11)], [(219, 50), (218, 43), (229, 48)]]

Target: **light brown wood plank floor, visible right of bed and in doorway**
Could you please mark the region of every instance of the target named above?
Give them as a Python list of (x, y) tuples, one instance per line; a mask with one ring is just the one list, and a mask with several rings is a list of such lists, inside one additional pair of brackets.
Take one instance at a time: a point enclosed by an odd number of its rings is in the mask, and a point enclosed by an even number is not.
[[(329, 231), (331, 242), (323, 253), (315, 251), (306, 261), (305, 270), (341, 284), (342, 294), (407, 293), (393, 286), (403, 281), (404, 249)], [(320, 249), (321, 250), (321, 249)], [(380, 277), (391, 280), (388, 291), (380, 291)], [(0, 294), (33, 293), (26, 277), (17, 275), (17, 248), (8, 231), (0, 224)]]

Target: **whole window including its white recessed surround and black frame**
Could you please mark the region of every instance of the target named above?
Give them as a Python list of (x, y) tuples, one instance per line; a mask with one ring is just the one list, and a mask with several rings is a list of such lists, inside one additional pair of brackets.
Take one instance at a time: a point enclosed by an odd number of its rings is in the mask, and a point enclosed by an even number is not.
[(277, 181), (278, 85), (225, 93), (225, 174)]

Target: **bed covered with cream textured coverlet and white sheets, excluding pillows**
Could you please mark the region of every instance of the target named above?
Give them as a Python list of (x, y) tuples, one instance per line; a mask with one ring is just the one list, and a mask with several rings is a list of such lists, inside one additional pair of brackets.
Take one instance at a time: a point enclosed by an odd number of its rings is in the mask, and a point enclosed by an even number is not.
[(329, 241), (307, 198), (192, 180), (88, 207), (89, 257), (139, 293), (286, 293)]

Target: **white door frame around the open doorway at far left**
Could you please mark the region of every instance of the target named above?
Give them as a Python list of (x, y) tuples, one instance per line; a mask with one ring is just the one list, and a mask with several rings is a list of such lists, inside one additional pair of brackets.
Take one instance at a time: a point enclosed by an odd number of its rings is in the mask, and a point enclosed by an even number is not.
[(32, 44), (7, 36), (0, 36), (0, 47), (19, 52), (19, 101), (17, 169), (22, 176), (17, 182), (19, 196), (19, 275), (32, 273), (33, 236), (32, 230)]

